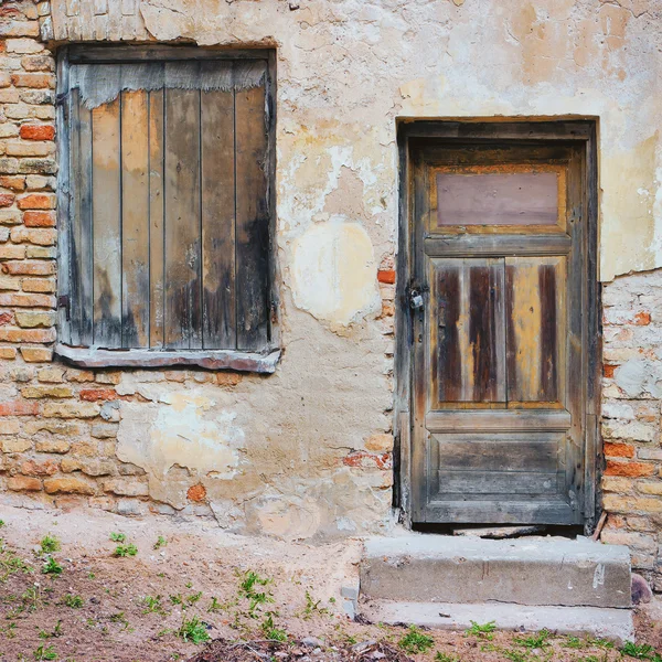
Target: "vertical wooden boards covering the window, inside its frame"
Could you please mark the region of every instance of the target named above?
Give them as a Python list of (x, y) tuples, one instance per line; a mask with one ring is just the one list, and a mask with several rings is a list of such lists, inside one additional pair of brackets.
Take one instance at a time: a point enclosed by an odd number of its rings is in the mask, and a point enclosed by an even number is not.
[(267, 60), (76, 63), (68, 88), (61, 342), (269, 350)]

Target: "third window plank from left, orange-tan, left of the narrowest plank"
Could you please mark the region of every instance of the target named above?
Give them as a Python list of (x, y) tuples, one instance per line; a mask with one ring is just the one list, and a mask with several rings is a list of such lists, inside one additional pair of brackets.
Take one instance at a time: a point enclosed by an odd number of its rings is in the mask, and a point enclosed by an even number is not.
[(148, 93), (121, 93), (121, 346), (149, 344)]

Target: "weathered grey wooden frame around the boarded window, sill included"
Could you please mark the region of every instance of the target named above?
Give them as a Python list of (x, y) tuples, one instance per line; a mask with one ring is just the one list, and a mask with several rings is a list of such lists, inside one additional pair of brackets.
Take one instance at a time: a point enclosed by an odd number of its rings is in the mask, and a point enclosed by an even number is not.
[(70, 66), (72, 64), (130, 64), (151, 61), (246, 61), (267, 62), (265, 82), (267, 109), (267, 186), (268, 186), (268, 275), (267, 323), (268, 340), (260, 351), (205, 350), (205, 349), (99, 349), (73, 346), (62, 341), (55, 344), (55, 354), (82, 367), (160, 367), (173, 365), (200, 366), (207, 370), (237, 370), (274, 373), (280, 360), (278, 265), (275, 250), (276, 231), (276, 52), (275, 50), (227, 50), (191, 45), (68, 45), (57, 52), (57, 306), (58, 330), (66, 329), (68, 296), (72, 285), (72, 206), (70, 172)]

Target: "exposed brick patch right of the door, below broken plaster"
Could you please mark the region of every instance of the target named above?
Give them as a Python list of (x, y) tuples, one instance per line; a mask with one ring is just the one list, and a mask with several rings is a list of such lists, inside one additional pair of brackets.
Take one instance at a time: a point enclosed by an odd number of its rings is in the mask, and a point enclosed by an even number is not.
[(602, 541), (662, 590), (662, 270), (604, 288)]

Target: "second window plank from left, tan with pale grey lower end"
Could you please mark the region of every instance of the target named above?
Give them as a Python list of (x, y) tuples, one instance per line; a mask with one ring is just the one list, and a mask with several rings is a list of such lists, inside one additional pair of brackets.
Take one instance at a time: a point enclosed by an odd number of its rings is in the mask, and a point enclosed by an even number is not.
[[(119, 76), (119, 66), (114, 66)], [(94, 343), (121, 346), (120, 103), (92, 111)]]

